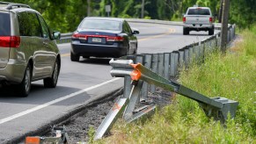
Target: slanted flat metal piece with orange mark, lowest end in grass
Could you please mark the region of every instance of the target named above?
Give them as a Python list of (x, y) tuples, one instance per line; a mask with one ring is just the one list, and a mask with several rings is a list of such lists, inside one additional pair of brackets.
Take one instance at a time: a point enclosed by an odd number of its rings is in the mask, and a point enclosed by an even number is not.
[(103, 119), (97, 132), (95, 133), (94, 140), (101, 139), (106, 132), (113, 126), (113, 123), (121, 116), (121, 113), (125, 110), (128, 104), (128, 98), (120, 98), (112, 107), (110, 112)]

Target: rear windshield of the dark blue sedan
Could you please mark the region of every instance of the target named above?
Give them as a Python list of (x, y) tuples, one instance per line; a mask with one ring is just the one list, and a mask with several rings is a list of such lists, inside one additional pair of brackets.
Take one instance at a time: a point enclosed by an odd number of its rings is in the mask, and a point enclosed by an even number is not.
[(84, 19), (79, 28), (121, 31), (121, 22), (105, 19)]

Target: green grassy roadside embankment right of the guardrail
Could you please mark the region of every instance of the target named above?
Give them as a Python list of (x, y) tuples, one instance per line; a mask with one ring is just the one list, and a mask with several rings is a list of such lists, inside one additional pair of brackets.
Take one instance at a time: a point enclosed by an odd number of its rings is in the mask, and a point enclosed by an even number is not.
[[(113, 135), (99, 143), (256, 143), (256, 27), (226, 55), (209, 54), (200, 66), (183, 71), (179, 82), (208, 97), (239, 102), (235, 119), (224, 128), (208, 119), (199, 105), (186, 97), (138, 123), (115, 124)], [(251, 30), (251, 31), (252, 31)]]

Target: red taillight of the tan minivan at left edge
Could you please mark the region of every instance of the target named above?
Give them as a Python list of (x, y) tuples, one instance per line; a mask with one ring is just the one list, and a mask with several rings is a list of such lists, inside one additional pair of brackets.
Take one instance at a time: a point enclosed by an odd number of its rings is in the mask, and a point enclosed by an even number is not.
[(19, 36), (0, 36), (0, 47), (19, 47)]

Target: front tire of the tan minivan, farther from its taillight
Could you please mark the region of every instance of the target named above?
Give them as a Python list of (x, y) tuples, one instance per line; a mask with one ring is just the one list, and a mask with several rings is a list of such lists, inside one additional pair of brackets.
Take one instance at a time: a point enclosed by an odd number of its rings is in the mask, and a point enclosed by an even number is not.
[(60, 62), (58, 59), (55, 61), (54, 71), (51, 77), (43, 80), (45, 88), (55, 88), (58, 83), (58, 77), (60, 74)]

